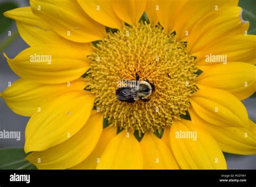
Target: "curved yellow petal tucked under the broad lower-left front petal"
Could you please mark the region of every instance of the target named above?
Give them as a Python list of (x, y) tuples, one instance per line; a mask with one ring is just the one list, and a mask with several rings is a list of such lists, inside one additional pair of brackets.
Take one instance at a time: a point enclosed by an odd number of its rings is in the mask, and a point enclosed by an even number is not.
[(75, 166), (95, 148), (102, 132), (102, 124), (103, 114), (92, 111), (86, 124), (71, 138), (42, 152), (33, 152), (26, 160), (38, 169), (67, 169)]

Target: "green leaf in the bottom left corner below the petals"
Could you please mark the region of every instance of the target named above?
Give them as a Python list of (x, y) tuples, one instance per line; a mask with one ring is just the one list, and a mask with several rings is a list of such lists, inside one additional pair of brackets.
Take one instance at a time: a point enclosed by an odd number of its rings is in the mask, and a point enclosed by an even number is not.
[(0, 149), (0, 169), (36, 169), (25, 157), (23, 148)]

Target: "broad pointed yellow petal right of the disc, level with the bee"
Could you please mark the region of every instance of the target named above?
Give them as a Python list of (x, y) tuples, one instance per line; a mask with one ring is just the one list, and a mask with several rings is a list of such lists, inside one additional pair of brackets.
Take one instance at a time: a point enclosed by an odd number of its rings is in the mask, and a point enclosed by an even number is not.
[(191, 105), (208, 123), (233, 127), (248, 127), (248, 114), (240, 100), (225, 90), (203, 87), (192, 94)]

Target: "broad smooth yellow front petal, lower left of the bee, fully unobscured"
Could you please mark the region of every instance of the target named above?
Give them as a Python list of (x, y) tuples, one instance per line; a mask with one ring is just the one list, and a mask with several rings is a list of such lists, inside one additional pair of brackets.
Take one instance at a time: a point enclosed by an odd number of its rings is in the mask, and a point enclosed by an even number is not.
[(89, 118), (94, 99), (87, 91), (70, 91), (49, 99), (26, 126), (25, 152), (48, 149), (75, 135)]

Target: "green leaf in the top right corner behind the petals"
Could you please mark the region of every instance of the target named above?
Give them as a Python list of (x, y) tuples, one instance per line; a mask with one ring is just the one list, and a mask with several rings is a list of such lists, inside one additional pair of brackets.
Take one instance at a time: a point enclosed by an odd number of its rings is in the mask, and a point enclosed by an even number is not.
[(238, 4), (242, 8), (242, 19), (250, 22), (248, 34), (255, 34), (256, 29), (256, 1), (240, 0)]

